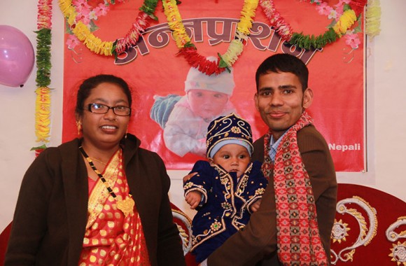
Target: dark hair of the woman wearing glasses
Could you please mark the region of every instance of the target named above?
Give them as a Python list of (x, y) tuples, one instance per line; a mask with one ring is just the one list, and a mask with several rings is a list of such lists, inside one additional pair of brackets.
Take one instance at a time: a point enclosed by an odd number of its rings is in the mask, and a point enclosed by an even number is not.
[(97, 87), (101, 83), (111, 83), (121, 87), (125, 95), (127, 95), (128, 104), (130, 105), (129, 107), (131, 108), (132, 104), (131, 90), (128, 84), (125, 82), (125, 80), (123, 80), (123, 78), (119, 78), (118, 76), (101, 74), (87, 78), (79, 86), (78, 96), (76, 97), (76, 109), (75, 109), (77, 115), (79, 116), (83, 115), (83, 105), (85, 104), (85, 100), (87, 99), (87, 97), (89, 97), (90, 92), (92, 92), (94, 87)]

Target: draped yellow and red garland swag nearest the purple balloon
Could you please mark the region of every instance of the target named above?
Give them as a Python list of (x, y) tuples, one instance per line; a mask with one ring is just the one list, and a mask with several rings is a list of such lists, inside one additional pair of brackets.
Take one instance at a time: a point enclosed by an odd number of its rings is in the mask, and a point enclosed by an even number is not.
[[(109, 2), (108, 2), (109, 3)], [(114, 4), (115, 1), (111, 1)], [(62, 10), (72, 33), (83, 43), (86, 47), (99, 55), (119, 55), (124, 52), (128, 47), (137, 43), (141, 33), (145, 31), (149, 25), (149, 20), (157, 20), (155, 17), (155, 9), (158, 0), (145, 0), (141, 10), (132, 25), (130, 31), (124, 38), (119, 38), (116, 41), (102, 41), (97, 36), (92, 34), (92, 31), (82, 21), (76, 21), (76, 10), (73, 6), (72, 0), (59, 0), (59, 8)]]

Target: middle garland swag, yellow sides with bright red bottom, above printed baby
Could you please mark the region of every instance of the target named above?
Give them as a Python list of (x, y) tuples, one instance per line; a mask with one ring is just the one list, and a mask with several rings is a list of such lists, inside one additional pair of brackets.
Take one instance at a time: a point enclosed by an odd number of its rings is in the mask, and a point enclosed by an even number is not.
[(249, 31), (255, 17), (255, 10), (258, 7), (258, 0), (245, 0), (241, 10), (241, 17), (237, 24), (235, 39), (231, 41), (228, 50), (224, 55), (218, 54), (218, 62), (211, 62), (206, 57), (197, 53), (197, 48), (191, 43), (185, 26), (182, 23), (181, 14), (175, 0), (162, 0), (164, 13), (167, 17), (169, 29), (173, 31), (179, 55), (183, 55), (186, 61), (200, 72), (207, 75), (221, 73), (231, 67), (244, 50), (244, 41), (248, 39)]

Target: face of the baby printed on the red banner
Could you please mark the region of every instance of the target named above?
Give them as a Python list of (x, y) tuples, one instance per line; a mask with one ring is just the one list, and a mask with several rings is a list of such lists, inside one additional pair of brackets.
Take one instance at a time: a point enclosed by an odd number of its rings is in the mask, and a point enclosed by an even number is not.
[(211, 90), (189, 90), (190, 109), (201, 118), (214, 118), (221, 114), (228, 102), (228, 94)]

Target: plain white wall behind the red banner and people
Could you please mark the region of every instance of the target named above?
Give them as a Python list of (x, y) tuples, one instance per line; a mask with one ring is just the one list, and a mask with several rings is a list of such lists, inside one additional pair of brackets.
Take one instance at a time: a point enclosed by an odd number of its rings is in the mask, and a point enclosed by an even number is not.
[[(23, 31), (36, 46), (37, 1), (0, 1), (0, 25)], [(358, 183), (383, 190), (406, 201), (406, 43), (405, 0), (381, 1), (381, 34), (367, 41), (367, 174), (339, 173), (339, 182)], [(62, 13), (57, 0), (52, 15), (52, 137), (48, 146), (61, 143), (63, 78)], [(27, 167), (34, 160), (31, 147), (37, 146), (34, 133), (35, 71), (24, 87), (0, 85), (0, 232), (10, 223)], [(349, 114), (351, 115), (351, 114)], [(193, 215), (183, 203), (181, 177), (186, 171), (170, 171), (171, 200)]]

